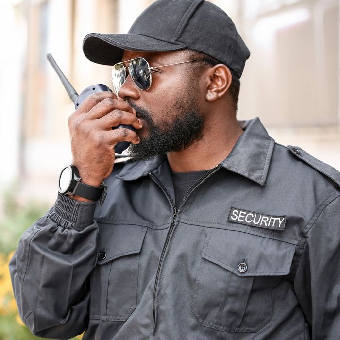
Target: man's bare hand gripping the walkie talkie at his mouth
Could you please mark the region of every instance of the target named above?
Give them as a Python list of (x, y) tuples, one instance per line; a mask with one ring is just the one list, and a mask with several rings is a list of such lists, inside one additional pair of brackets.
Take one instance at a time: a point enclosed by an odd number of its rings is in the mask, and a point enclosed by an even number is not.
[(68, 118), (72, 164), (85, 184), (99, 187), (110, 175), (115, 161), (114, 147), (118, 142), (140, 142), (134, 131), (112, 130), (119, 124), (132, 125), (136, 129), (142, 127), (136, 110), (106, 91), (88, 96)]

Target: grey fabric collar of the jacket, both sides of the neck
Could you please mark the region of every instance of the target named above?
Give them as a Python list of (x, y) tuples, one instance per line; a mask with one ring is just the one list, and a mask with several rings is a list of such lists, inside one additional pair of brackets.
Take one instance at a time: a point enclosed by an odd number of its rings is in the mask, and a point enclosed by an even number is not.
[[(264, 186), (275, 141), (268, 135), (258, 117), (238, 123), (244, 132), (231, 153), (221, 162), (221, 166)], [(162, 155), (147, 162), (127, 163), (116, 178), (133, 181), (147, 176), (165, 159), (165, 155)]]

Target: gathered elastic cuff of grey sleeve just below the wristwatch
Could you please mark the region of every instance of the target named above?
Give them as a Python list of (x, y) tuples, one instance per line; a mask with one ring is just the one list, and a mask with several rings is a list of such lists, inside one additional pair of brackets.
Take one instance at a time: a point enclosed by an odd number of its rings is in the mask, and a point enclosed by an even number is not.
[(96, 202), (79, 202), (58, 192), (58, 198), (49, 216), (65, 228), (83, 230), (93, 224)]

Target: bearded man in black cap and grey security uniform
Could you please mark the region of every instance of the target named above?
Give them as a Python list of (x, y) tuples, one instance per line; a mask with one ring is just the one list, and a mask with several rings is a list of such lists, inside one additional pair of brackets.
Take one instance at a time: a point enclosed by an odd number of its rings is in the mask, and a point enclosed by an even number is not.
[[(84, 52), (118, 63), (117, 96), (70, 116), (65, 194), (11, 261), (27, 326), (62, 339), (339, 339), (340, 174), (275, 144), (259, 119), (236, 120), (249, 51), (230, 18), (159, 0), (129, 34), (87, 35)], [(122, 141), (139, 162), (114, 164)]]

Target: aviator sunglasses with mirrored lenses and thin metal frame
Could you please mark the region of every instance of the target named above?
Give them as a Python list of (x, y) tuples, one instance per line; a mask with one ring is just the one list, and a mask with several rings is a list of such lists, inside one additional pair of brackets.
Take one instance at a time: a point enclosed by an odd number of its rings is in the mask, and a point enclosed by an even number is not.
[[(127, 76), (130, 74), (131, 79), (134, 81), (136, 86), (143, 91), (146, 91), (150, 88), (152, 77), (151, 74), (156, 71), (156, 68), (163, 68), (165, 66), (177, 65), (177, 64), (185, 64), (191, 63), (193, 61), (202, 61), (205, 60), (212, 65), (216, 65), (210, 59), (200, 58), (193, 59), (187, 61), (180, 61), (178, 63), (160, 65), (160, 66), (150, 66), (149, 63), (144, 58), (134, 58), (130, 60), (125, 60), (120, 63), (115, 64), (112, 67), (112, 85), (113, 90), (118, 95), (119, 88), (124, 84)], [(123, 63), (129, 62), (129, 66), (124, 66)], [(126, 68), (128, 71), (126, 71)]]

